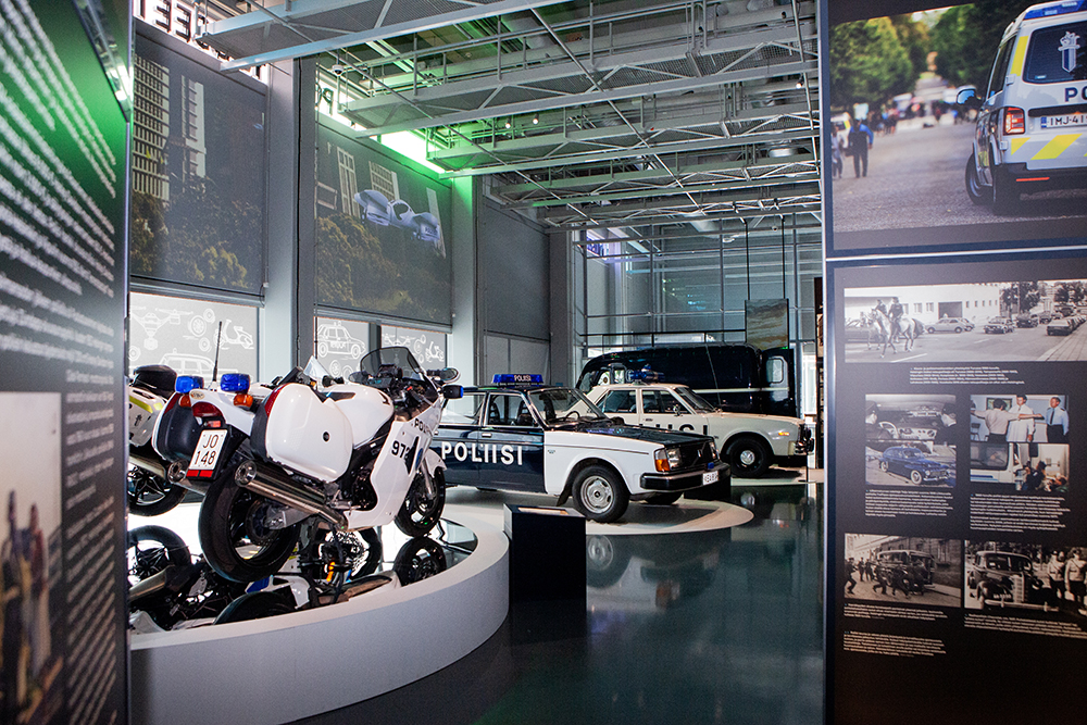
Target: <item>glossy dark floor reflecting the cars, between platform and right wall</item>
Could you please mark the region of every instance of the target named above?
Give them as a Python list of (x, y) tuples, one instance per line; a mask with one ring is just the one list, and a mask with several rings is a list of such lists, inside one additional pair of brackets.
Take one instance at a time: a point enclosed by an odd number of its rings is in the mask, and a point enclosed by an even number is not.
[(299, 722), (822, 723), (822, 486), (734, 486), (733, 499), (754, 520), (587, 537), (584, 602), (515, 604), (453, 665)]

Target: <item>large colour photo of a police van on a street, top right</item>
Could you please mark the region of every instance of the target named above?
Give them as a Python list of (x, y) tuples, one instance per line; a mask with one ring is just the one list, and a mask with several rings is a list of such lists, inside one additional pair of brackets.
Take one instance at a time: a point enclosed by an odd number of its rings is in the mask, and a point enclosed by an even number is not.
[(836, 248), (1083, 235), (1083, 3), (855, 20), (832, 26), (828, 46)]

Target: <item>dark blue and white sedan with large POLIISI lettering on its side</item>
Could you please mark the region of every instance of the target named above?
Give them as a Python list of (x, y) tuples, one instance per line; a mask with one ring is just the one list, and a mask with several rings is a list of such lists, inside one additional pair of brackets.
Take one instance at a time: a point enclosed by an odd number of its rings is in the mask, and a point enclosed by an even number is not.
[(573, 497), (587, 518), (620, 518), (630, 500), (674, 503), (728, 480), (713, 438), (621, 425), (578, 390), (539, 375), (496, 375), (450, 400), (430, 443), (446, 484)]

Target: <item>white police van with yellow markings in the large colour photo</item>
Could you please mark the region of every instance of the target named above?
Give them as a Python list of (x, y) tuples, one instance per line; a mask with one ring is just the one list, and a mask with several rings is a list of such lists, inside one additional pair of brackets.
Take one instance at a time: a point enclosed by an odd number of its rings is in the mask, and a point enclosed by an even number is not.
[(1087, 186), (1087, 0), (1025, 10), (1004, 30), (978, 111), (966, 192), (997, 213), (1021, 193)]

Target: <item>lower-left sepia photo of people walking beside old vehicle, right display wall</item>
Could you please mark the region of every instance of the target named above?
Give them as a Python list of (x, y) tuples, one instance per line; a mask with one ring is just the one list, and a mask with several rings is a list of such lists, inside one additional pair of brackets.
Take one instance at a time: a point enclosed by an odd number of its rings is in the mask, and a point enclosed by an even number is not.
[(960, 607), (962, 541), (846, 534), (846, 599)]

